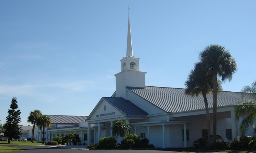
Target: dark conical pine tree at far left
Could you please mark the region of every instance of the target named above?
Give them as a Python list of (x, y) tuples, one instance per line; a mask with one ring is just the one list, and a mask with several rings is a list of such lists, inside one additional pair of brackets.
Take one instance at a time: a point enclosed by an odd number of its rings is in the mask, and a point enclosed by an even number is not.
[[(10, 108), (8, 110), (8, 117), (6, 117), (6, 123), (4, 125), (4, 134), (8, 138), (8, 143), (10, 143), (10, 139), (19, 139), (20, 138), (20, 132), (21, 132), (21, 127), (19, 127), (18, 123), (21, 122), (20, 118), (20, 110), (18, 109), (18, 104), (17, 104), (17, 99), (16, 97), (12, 98), (12, 102), (10, 105)], [(18, 109), (18, 110), (16, 110)]]

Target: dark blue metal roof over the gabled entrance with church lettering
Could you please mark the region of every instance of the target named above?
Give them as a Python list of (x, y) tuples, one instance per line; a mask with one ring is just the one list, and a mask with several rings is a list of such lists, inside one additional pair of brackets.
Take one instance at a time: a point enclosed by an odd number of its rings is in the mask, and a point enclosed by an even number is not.
[(102, 97), (108, 103), (110, 103), (113, 107), (118, 109), (124, 115), (148, 115), (147, 112), (143, 111), (138, 106), (134, 105), (131, 101), (125, 100), (124, 98), (116, 98), (116, 97)]

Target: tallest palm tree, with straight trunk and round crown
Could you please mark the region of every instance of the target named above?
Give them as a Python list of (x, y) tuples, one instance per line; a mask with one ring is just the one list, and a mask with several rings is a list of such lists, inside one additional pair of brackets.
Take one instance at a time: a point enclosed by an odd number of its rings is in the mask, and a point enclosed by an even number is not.
[(204, 48), (200, 53), (199, 58), (201, 60), (202, 67), (204, 70), (208, 71), (208, 75), (212, 77), (213, 82), (212, 142), (215, 143), (217, 128), (217, 77), (221, 79), (221, 82), (226, 82), (226, 80), (231, 81), (233, 73), (237, 70), (236, 61), (225, 47), (216, 44), (211, 44)]

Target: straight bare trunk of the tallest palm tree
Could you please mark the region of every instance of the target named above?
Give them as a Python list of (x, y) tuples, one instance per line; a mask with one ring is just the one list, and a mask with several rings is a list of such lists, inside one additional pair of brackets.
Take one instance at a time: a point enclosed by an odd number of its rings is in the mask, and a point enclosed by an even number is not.
[(217, 130), (217, 73), (213, 74), (213, 126), (212, 126), (212, 143), (216, 142)]

